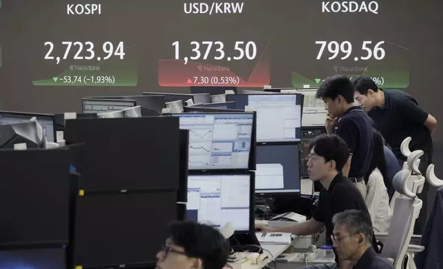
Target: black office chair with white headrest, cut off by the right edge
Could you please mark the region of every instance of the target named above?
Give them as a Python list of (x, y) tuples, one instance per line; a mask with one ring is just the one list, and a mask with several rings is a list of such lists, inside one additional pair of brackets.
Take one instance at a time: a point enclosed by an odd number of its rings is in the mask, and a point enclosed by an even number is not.
[(414, 261), (417, 269), (443, 268), (443, 180), (434, 173), (434, 165), (426, 169), (426, 180), (433, 187), (438, 187), (433, 200), (432, 211), (424, 225), (422, 242), (424, 251), (415, 255)]

